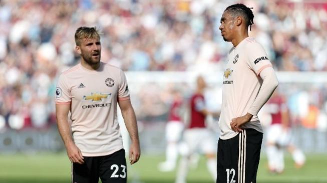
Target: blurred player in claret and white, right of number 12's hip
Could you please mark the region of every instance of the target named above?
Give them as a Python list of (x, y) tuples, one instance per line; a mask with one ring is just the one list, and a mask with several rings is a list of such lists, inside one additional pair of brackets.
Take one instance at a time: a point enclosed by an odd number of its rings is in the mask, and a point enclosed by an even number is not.
[(295, 162), (295, 167), (302, 167), (305, 162), (303, 152), (298, 149), (291, 139), (291, 123), (284, 96), (275, 90), (265, 105), (266, 112), (271, 114), (271, 125), (267, 130), (268, 168), (272, 173), (284, 170), (284, 150), (288, 150)]

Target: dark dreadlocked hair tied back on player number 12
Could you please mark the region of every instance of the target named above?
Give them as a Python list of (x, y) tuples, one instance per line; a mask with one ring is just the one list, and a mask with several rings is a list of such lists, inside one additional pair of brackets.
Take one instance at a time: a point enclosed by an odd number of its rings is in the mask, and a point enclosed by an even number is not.
[(242, 16), (244, 19), (245, 19), (245, 23), (247, 26), (250, 25), (250, 30), (251, 30), (251, 25), (253, 24), (253, 18), (254, 18), (254, 15), (253, 15), (253, 12), (252, 10), (253, 7), (247, 7), (246, 5), (244, 4), (233, 4), (233, 5), (230, 5), (228, 6), (226, 10), (228, 10), (228, 12), (232, 15), (232, 16)]

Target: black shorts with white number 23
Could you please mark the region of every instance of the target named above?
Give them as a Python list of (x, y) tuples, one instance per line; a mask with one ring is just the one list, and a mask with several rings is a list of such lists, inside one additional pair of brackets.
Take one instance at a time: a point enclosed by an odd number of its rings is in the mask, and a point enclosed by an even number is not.
[(98, 183), (126, 183), (127, 167), (125, 150), (122, 148), (112, 154), (104, 156), (84, 156), (84, 163), (73, 163), (72, 182)]

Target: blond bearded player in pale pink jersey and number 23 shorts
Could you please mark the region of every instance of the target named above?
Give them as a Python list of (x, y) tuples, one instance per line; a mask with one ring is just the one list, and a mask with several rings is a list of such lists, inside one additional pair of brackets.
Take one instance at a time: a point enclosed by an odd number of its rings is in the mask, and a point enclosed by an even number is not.
[[(81, 62), (61, 73), (56, 90), (58, 130), (72, 162), (72, 182), (127, 182), (117, 103), (131, 137), (129, 160), (140, 157), (138, 128), (124, 72), (100, 61), (95, 27), (75, 32)], [(71, 112), (71, 124), (67, 116)]]

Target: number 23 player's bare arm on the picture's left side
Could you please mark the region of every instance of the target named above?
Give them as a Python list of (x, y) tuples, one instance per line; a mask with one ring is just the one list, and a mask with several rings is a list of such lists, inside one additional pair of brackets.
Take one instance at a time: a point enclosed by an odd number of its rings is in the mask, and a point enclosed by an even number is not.
[(81, 150), (75, 145), (70, 125), (67, 120), (70, 104), (56, 104), (56, 117), (59, 133), (65, 143), (67, 155), (72, 162), (84, 163)]

